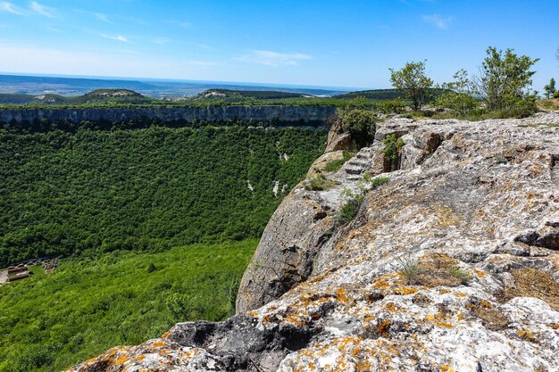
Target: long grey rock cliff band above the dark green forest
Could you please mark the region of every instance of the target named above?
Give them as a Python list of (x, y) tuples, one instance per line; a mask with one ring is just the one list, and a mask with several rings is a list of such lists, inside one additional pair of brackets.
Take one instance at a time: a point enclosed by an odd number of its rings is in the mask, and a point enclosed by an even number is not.
[(324, 124), (336, 113), (333, 106), (210, 106), (210, 107), (133, 107), (133, 108), (24, 108), (0, 109), (0, 122), (36, 120), (89, 121), (277, 121), (280, 123)]

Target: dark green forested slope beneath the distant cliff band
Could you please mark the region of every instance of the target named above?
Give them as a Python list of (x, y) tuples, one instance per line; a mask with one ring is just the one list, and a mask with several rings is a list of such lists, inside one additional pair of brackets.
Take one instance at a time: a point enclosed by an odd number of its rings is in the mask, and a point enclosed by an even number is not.
[(0, 266), (259, 237), (326, 134), (235, 126), (0, 130)]

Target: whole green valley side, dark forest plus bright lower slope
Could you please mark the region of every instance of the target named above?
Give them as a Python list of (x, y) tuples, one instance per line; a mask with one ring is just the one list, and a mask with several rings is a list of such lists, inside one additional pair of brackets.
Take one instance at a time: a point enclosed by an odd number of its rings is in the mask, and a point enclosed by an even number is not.
[[(57, 371), (234, 313), (271, 213), (324, 128), (0, 129), (0, 372)], [(209, 295), (211, 293), (211, 295)]]

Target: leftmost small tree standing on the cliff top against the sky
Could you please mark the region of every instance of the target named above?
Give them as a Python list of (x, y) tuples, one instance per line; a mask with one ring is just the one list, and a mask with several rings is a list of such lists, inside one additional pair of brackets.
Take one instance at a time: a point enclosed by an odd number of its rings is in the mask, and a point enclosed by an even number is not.
[(425, 74), (425, 61), (407, 62), (402, 70), (390, 70), (390, 82), (413, 102), (413, 110), (421, 110), (429, 99), (433, 80)]

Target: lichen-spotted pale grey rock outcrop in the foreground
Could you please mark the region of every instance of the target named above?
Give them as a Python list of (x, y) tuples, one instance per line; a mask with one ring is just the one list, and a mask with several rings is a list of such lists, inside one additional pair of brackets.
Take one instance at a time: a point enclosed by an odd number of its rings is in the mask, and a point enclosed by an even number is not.
[[(387, 173), (389, 134), (404, 146)], [(71, 371), (559, 370), (559, 114), (393, 118), (358, 155), (284, 200), (237, 316)], [(344, 189), (364, 198), (339, 226)]]

